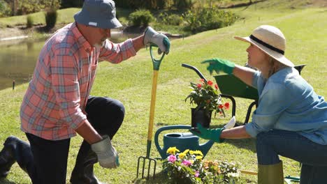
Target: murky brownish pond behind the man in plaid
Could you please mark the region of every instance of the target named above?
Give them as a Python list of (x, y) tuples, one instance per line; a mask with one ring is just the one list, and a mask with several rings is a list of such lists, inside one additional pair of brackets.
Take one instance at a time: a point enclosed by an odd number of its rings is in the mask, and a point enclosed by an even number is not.
[[(124, 35), (112, 42), (119, 43), (126, 38), (135, 38), (136, 34)], [(0, 90), (15, 85), (29, 82), (36, 66), (38, 54), (45, 43), (45, 40), (16, 40), (15, 43), (8, 42), (0, 45)]]

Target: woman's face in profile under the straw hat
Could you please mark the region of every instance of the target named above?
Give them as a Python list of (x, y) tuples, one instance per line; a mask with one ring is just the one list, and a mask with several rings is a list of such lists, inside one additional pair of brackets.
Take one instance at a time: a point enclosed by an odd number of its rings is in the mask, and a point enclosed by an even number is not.
[(268, 55), (255, 45), (249, 45), (247, 53), (247, 63), (249, 66), (260, 70), (268, 64)]

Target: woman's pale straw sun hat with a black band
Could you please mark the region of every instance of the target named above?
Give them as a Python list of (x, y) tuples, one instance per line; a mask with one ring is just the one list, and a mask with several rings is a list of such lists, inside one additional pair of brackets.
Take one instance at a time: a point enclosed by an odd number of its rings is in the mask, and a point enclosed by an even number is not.
[(252, 32), (252, 35), (248, 37), (234, 37), (237, 40), (242, 40), (247, 43), (256, 45), (263, 52), (266, 52), (269, 56), (283, 63), (286, 66), (293, 67), (294, 64), (284, 56), (286, 49), (286, 39), (279, 29), (275, 26), (263, 25), (259, 26)]

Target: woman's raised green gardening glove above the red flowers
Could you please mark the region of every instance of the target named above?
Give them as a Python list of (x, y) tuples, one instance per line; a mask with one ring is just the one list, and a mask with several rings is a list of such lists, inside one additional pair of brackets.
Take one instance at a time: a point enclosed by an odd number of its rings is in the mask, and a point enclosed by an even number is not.
[(235, 68), (235, 64), (226, 59), (212, 58), (201, 63), (209, 63), (207, 70), (209, 70), (210, 75), (212, 75), (212, 71), (215, 70), (217, 73), (219, 71), (226, 72), (227, 74), (232, 74)]

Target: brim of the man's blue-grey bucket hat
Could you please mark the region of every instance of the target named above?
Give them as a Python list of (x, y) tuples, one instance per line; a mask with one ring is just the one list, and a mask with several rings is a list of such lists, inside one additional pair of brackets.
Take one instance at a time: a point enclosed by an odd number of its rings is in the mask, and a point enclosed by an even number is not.
[(91, 17), (88, 15), (87, 11), (79, 11), (75, 13), (74, 19), (75, 22), (79, 24), (84, 24), (87, 26), (96, 26), (102, 29), (115, 29), (122, 27), (122, 24), (117, 20), (116, 17), (108, 19), (106, 17)]

